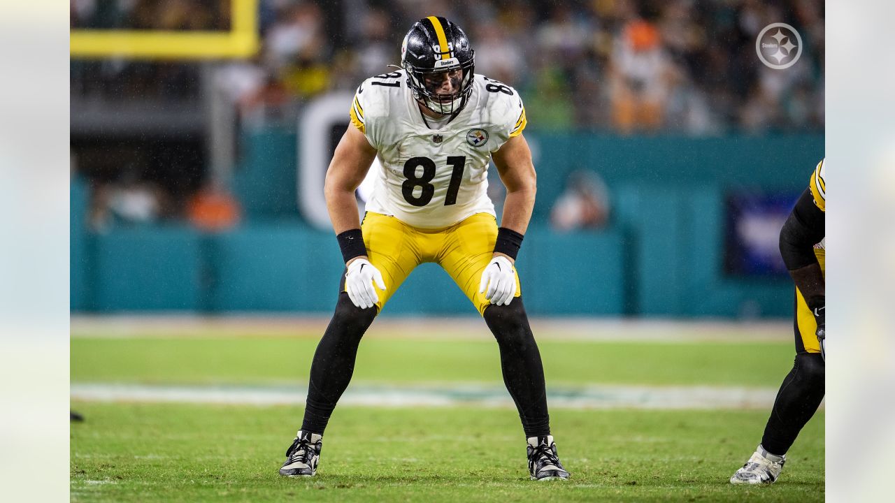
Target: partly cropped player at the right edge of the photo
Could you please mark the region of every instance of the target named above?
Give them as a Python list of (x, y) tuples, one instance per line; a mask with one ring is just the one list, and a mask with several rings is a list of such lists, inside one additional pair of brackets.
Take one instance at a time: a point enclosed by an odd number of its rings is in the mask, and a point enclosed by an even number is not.
[(730, 477), (732, 484), (770, 484), (780, 476), (786, 453), (823, 400), (826, 323), (824, 255), (826, 180), (823, 160), (780, 231), (780, 254), (796, 283), (796, 362), (764, 427), (762, 443)]

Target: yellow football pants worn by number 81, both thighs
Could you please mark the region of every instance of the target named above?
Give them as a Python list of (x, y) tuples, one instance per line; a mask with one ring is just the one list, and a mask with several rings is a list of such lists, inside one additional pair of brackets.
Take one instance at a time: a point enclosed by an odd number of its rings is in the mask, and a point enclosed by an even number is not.
[[(479, 314), (490, 304), (485, 294), (479, 293), (482, 272), (493, 257), (498, 237), (497, 221), (488, 213), (477, 213), (441, 229), (421, 229), (396, 217), (367, 212), (361, 230), (370, 263), (379, 269), (386, 283), (385, 292), (376, 290), (379, 312), (410, 272), (423, 262), (435, 262), (445, 269)], [(513, 272), (518, 297), (522, 287), (515, 268)]]

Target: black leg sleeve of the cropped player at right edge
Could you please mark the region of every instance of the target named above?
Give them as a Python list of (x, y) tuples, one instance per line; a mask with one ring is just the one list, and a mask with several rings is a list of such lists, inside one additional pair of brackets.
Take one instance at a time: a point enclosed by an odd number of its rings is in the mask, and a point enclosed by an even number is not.
[(762, 447), (771, 454), (786, 454), (798, 432), (821, 405), (825, 369), (821, 354), (796, 355), (796, 362), (780, 385), (771, 418), (764, 428)]

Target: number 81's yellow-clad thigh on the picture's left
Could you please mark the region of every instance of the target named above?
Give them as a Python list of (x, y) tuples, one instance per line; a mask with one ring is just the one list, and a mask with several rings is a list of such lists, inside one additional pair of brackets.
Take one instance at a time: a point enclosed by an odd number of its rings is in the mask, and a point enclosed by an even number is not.
[[(363, 244), (367, 248), (370, 263), (382, 273), (386, 284), (385, 292), (376, 289), (379, 311), (388, 302), (398, 286), (417, 265), (419, 256), (413, 243), (413, 231), (395, 217), (367, 213), (361, 224)], [(342, 283), (345, 291), (345, 282)]]

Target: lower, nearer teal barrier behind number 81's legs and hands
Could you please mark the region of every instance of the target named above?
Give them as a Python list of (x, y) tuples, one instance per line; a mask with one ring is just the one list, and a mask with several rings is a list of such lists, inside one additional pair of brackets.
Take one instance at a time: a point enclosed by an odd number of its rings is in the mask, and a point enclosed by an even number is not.
[[(72, 290), (76, 311), (327, 312), (343, 271), (332, 234), (304, 226), (246, 226), (221, 234), (186, 227), (141, 227), (90, 234), (90, 295)], [(613, 314), (623, 310), (623, 254), (615, 232), (584, 236), (534, 232), (518, 262), (526, 306), (538, 314)], [(578, 247), (601, 260), (575, 263)], [(74, 269), (72, 269), (74, 270)], [(568, 303), (569, 291), (600, 286)], [(77, 302), (76, 302), (77, 300)], [(443, 270), (424, 264), (398, 289), (383, 313), (474, 313)]]

